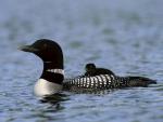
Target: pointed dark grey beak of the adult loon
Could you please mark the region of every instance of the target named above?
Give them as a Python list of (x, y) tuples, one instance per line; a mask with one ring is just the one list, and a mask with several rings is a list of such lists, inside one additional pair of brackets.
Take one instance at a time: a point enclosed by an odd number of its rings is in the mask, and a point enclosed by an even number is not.
[(36, 53), (39, 51), (38, 49), (35, 49), (33, 45), (23, 45), (23, 46), (20, 46), (18, 50), (24, 51), (24, 52), (30, 52), (30, 53)]

